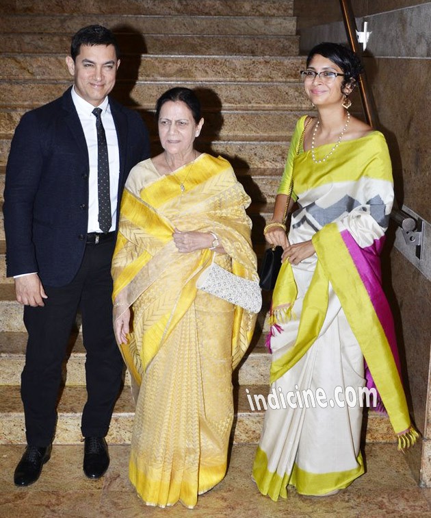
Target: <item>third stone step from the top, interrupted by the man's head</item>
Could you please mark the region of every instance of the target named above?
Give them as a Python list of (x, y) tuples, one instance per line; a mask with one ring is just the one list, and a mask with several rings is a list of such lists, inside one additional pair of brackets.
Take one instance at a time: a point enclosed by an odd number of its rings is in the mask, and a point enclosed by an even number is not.
[[(1, 53), (66, 54), (70, 34), (1, 34)], [(299, 36), (236, 36), (116, 33), (122, 56), (129, 53), (231, 56), (295, 56)]]

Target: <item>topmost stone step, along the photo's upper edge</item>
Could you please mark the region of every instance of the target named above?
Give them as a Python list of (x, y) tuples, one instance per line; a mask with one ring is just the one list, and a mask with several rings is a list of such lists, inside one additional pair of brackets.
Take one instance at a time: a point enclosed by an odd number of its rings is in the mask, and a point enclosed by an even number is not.
[(292, 16), (293, 0), (2, 0), (2, 14), (169, 14), (181, 16)]

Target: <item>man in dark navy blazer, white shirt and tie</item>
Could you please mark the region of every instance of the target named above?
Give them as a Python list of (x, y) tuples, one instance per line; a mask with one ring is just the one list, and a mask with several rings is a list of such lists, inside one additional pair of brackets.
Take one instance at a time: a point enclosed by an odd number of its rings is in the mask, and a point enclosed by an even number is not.
[(112, 328), (111, 258), (127, 175), (149, 156), (140, 116), (108, 97), (118, 54), (105, 27), (77, 32), (66, 58), (73, 87), (27, 112), (12, 140), (3, 206), (7, 274), (28, 332), (21, 376), (27, 448), (14, 473), (18, 486), (38, 480), (51, 456), (78, 308), (87, 351), (83, 470), (99, 478), (109, 465), (105, 436), (123, 365)]

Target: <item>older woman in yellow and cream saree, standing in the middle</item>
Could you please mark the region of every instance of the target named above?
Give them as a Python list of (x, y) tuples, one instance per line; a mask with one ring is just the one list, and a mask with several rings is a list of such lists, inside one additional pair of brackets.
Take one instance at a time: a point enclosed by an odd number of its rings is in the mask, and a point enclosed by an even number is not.
[(231, 165), (194, 149), (188, 88), (157, 101), (164, 152), (132, 169), (112, 264), (114, 328), (136, 403), (129, 476), (151, 506), (192, 508), (226, 473), (232, 371), (255, 315), (196, 288), (210, 263), (257, 280), (248, 195)]

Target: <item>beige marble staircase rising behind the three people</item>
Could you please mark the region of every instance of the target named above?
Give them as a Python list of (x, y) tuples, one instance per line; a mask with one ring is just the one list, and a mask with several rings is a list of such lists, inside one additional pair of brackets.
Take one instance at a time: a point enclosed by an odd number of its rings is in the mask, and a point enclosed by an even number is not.
[[(142, 114), (153, 152), (158, 147), (153, 122), (157, 97), (177, 84), (198, 90), (206, 123), (197, 147), (233, 164), (252, 197), (252, 236), (261, 256), (263, 225), (272, 214), (289, 137), (298, 115), (310, 109), (298, 81), (304, 59), (298, 56), (293, 0), (3, 0), (0, 14), (0, 203), (16, 124), (25, 111), (63, 93), (70, 84), (64, 63), (70, 36), (84, 25), (101, 23), (118, 34), (123, 49), (114, 95)], [(21, 444), (25, 430), (19, 383), (26, 335), (22, 308), (5, 277), (4, 254), (0, 221), (0, 444)], [(266, 297), (250, 351), (234, 373), (235, 443), (259, 439), (263, 412), (250, 410), (245, 390), (267, 392), (267, 308)], [(79, 319), (66, 360), (57, 444), (81, 439), (86, 393)], [(128, 385), (126, 375), (109, 432), (111, 443), (130, 440), (133, 404)], [(393, 441), (386, 417), (369, 412), (366, 439)]]

